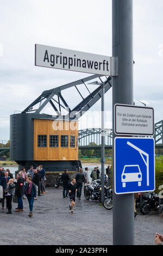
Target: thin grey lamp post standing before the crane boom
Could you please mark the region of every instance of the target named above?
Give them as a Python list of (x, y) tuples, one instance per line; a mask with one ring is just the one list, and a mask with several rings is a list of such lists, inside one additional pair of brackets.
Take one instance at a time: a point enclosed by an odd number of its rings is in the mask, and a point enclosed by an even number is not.
[(104, 202), (104, 163), (105, 163), (105, 131), (104, 131), (104, 95), (105, 95), (105, 82), (99, 83), (98, 81), (89, 83), (101, 86), (101, 203)]

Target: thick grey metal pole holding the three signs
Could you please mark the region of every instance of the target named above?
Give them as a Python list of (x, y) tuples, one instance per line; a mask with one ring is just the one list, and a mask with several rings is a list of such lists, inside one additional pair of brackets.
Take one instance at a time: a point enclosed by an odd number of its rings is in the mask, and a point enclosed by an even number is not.
[[(116, 103), (133, 105), (133, 0), (112, 0), (112, 56), (118, 57), (119, 63), (118, 76), (112, 77), (114, 113)], [(114, 131), (114, 114), (112, 117)], [(113, 157), (115, 137), (113, 132)], [(112, 173), (114, 186), (114, 169)], [(134, 194), (114, 192), (113, 244), (134, 245), (134, 240)]]

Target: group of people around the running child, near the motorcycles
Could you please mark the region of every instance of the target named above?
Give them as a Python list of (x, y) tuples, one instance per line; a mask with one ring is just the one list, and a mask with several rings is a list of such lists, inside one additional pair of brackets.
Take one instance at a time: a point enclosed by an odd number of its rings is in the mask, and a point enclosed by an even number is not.
[[(70, 212), (73, 214), (73, 206), (75, 205), (76, 201), (76, 192), (77, 192), (77, 198), (80, 200), (82, 195), (82, 187), (83, 183), (89, 183), (89, 174), (88, 174), (89, 168), (85, 167), (85, 170), (83, 172), (82, 168), (79, 168), (79, 172), (75, 175), (75, 177), (71, 180), (70, 176), (68, 175), (68, 170), (65, 169), (64, 173), (61, 176), (61, 181), (63, 185), (63, 198), (69, 198), (71, 201), (71, 204), (69, 204)], [(100, 178), (101, 172), (99, 171), (98, 166), (95, 167), (90, 175), (91, 181), (97, 180)], [(106, 168), (106, 174), (105, 176), (108, 176), (108, 179), (111, 179), (111, 168), (108, 166)]]

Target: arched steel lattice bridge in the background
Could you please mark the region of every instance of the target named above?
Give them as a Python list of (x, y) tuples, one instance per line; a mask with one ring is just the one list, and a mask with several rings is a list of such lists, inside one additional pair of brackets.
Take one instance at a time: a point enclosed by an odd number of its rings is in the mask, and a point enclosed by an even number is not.
[[(101, 128), (79, 130), (79, 149), (101, 149)], [(163, 148), (163, 120), (154, 125), (155, 148)], [(112, 129), (105, 129), (105, 149), (112, 149)]]

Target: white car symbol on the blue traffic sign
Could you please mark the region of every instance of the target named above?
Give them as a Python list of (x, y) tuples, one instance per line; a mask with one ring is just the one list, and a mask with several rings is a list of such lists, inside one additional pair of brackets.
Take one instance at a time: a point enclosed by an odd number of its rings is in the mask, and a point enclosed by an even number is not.
[(125, 165), (121, 175), (122, 186), (126, 187), (126, 182), (138, 182), (141, 186), (142, 173), (138, 164)]

